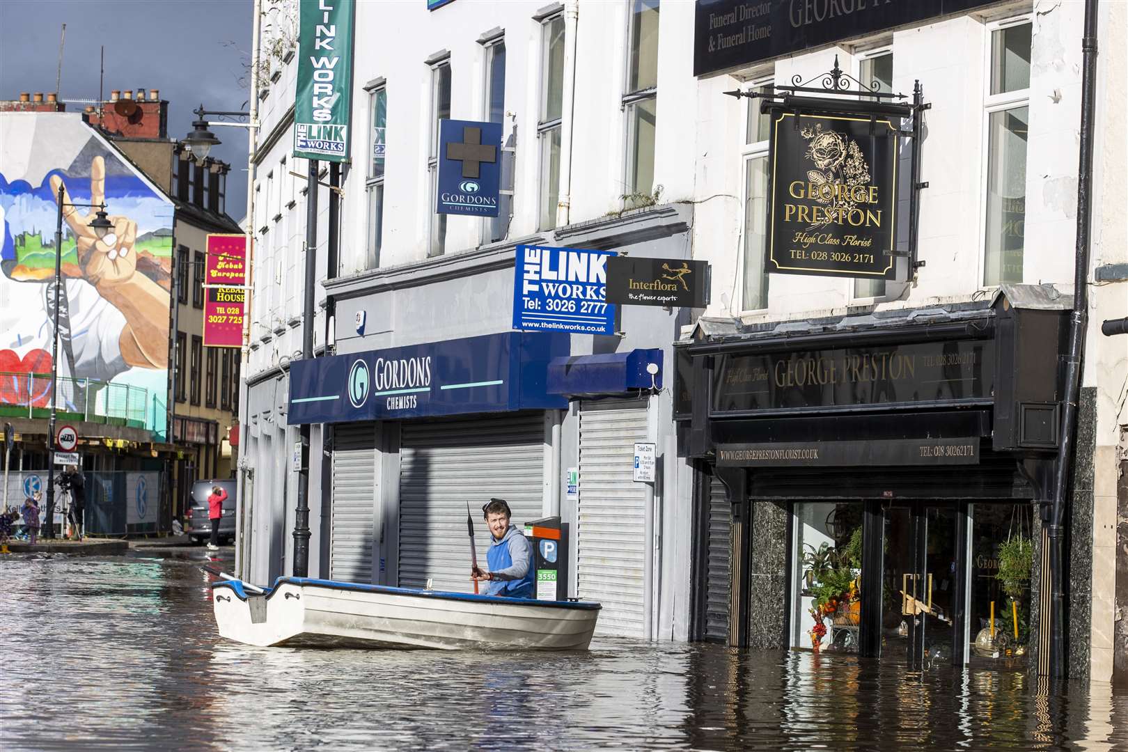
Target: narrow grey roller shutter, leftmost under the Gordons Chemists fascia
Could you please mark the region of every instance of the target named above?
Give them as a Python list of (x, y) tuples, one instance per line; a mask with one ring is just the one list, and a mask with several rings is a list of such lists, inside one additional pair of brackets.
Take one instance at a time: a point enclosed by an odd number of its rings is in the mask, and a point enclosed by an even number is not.
[(333, 523), (329, 577), (372, 582), (376, 542), (376, 424), (338, 425), (333, 433)]

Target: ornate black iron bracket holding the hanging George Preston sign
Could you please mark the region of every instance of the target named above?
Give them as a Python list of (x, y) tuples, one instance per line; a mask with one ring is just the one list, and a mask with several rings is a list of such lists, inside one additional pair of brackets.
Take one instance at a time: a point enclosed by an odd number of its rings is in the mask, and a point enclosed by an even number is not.
[[(820, 86), (811, 86), (818, 82)], [(853, 88), (852, 85), (856, 85)], [(924, 90), (920, 81), (916, 80), (913, 86), (911, 103), (905, 101), (909, 98), (906, 94), (881, 91), (880, 82), (874, 80), (866, 85), (849, 73), (841, 70), (838, 64), (838, 55), (835, 55), (835, 64), (826, 73), (803, 80), (801, 74), (795, 74), (791, 79), (790, 86), (777, 86), (769, 83), (764, 87), (765, 91), (750, 91), (734, 89), (725, 91), (730, 97), (748, 97), (749, 99), (763, 99), (761, 109), (769, 107), (783, 107), (796, 115), (795, 127), (799, 127), (801, 113), (810, 112), (846, 112), (852, 114), (863, 114), (870, 116), (870, 134), (873, 135), (876, 129), (878, 115), (891, 115), (902, 118), (910, 118), (911, 130), (899, 130), (899, 138), (911, 139), (911, 167), (910, 179), (911, 191), (909, 195), (909, 242), (908, 242), (908, 282), (915, 282), (918, 271), (925, 265), (918, 258), (918, 237), (920, 216), (920, 191), (928, 187), (927, 182), (920, 180), (920, 150), (923, 141), (923, 113), (932, 109), (932, 104), (924, 101)], [(827, 96), (804, 96), (804, 95), (837, 95)], [(856, 98), (853, 98), (856, 97)]]

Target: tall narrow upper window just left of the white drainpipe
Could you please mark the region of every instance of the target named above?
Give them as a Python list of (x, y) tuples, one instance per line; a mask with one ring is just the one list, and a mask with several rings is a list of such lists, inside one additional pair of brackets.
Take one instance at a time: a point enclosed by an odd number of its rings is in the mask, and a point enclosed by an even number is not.
[(540, 25), (540, 222), (541, 230), (556, 227), (561, 185), (561, 118), (564, 109), (564, 16)]

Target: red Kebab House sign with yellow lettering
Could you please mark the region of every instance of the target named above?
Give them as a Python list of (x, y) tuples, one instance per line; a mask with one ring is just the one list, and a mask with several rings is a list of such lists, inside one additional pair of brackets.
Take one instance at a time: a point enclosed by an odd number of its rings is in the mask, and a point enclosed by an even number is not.
[(204, 284), (204, 346), (241, 347), (243, 309), (247, 278), (247, 236), (209, 235)]

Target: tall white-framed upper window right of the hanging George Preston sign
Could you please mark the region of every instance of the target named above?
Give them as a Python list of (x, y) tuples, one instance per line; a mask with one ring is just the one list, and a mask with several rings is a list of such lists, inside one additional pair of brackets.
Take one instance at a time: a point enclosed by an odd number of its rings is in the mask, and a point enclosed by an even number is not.
[(1030, 122), (1029, 19), (990, 29), (984, 285), (1022, 282)]

